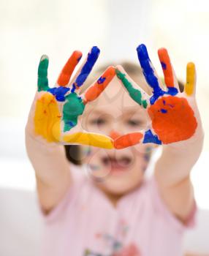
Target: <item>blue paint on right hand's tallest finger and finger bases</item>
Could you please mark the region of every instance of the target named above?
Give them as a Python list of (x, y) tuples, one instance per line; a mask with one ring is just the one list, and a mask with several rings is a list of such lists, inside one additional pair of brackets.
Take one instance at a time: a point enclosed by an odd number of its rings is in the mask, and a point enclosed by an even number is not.
[[(156, 102), (156, 100), (164, 94), (169, 94), (172, 96), (178, 94), (178, 89), (176, 89), (175, 87), (167, 87), (167, 91), (163, 91), (160, 88), (158, 78), (154, 74), (153, 67), (151, 66), (151, 60), (148, 56), (148, 51), (145, 45), (139, 45), (137, 47), (137, 54), (143, 74), (145, 75), (145, 79), (153, 89), (153, 96), (150, 99), (151, 105), (153, 105), (154, 102)], [(164, 63), (162, 62), (162, 66), (163, 64)], [(166, 65), (164, 67), (166, 68)]]

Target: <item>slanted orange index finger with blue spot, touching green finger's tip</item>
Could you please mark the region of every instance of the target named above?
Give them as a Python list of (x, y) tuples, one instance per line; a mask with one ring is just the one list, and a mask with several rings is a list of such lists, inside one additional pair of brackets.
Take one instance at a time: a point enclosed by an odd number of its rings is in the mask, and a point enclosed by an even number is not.
[(99, 95), (102, 94), (102, 91), (104, 91), (104, 89), (108, 86), (110, 81), (113, 80), (114, 76), (115, 68), (113, 66), (108, 67), (101, 75), (101, 77), (96, 81), (96, 83), (94, 83), (86, 90), (83, 102), (86, 104), (87, 102), (91, 102), (99, 97)]

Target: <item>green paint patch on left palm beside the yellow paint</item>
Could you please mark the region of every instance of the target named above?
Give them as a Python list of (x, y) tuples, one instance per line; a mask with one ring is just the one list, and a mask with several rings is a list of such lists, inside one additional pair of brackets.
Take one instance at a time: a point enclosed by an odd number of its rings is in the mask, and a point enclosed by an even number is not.
[(83, 114), (85, 105), (76, 93), (68, 94), (65, 97), (66, 103), (63, 106), (64, 132), (69, 131), (77, 125), (78, 116)]

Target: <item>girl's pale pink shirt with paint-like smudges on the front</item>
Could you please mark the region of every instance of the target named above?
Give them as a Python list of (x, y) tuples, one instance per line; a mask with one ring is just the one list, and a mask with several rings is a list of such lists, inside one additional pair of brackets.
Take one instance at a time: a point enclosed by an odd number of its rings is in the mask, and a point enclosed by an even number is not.
[(42, 214), (44, 256), (183, 255), (183, 231), (194, 226), (195, 203), (183, 225), (164, 205), (153, 176), (114, 207), (82, 167), (70, 168), (72, 187), (50, 214)]

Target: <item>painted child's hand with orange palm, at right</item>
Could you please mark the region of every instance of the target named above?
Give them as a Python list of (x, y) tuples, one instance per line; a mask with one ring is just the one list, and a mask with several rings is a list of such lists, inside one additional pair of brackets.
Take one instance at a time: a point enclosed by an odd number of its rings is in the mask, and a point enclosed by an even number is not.
[(159, 49), (159, 60), (164, 72), (164, 89), (149, 59), (145, 45), (137, 48), (138, 58), (153, 95), (149, 96), (137, 86), (121, 66), (116, 69), (118, 78), (141, 107), (148, 111), (150, 124), (140, 132), (123, 135), (116, 139), (115, 148), (125, 148), (137, 143), (169, 144), (188, 146), (203, 139), (202, 124), (195, 100), (196, 72), (193, 63), (187, 64), (186, 85), (183, 92), (178, 87), (167, 50)]

